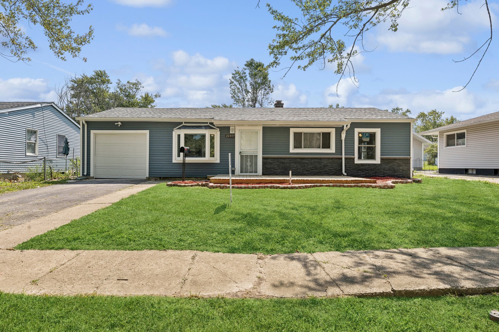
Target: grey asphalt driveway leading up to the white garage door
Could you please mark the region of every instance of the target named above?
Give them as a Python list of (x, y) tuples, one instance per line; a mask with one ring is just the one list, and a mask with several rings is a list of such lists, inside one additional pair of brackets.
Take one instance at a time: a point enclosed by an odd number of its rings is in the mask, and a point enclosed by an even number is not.
[(143, 180), (81, 180), (0, 195), (0, 231), (107, 195)]

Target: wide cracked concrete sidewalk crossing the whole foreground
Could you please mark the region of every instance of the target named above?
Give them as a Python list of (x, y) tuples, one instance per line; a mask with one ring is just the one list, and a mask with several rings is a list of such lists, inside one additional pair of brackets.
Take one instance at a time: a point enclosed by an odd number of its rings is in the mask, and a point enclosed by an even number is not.
[(498, 257), (499, 247), (270, 256), (0, 250), (0, 291), (233, 298), (484, 294), (499, 291)]

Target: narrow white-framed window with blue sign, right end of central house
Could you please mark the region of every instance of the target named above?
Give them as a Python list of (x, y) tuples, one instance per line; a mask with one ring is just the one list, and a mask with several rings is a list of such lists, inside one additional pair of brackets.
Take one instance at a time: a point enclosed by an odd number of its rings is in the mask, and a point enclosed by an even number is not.
[(355, 163), (380, 164), (381, 129), (355, 129)]

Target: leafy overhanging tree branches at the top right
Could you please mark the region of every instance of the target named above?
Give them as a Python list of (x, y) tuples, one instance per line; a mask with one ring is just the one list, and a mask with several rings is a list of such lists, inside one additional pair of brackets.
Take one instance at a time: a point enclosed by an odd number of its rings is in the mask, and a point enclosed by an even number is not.
[[(289, 58), (291, 63), (286, 65), (285, 76), (295, 64), (298, 69), (306, 70), (318, 63), (322, 68), (325, 68), (326, 63), (334, 63), (336, 64), (335, 73), (340, 75), (340, 79), (347, 69), (355, 79), (351, 60), (358, 54), (357, 48), (364, 49), (365, 38), (368, 37), (365, 32), (383, 22), (388, 22), (390, 24), (388, 29), (396, 32), (398, 21), (404, 10), (410, 3), (418, 2), (415, 0), (291, 1), (300, 11), (299, 15), (288, 16), (267, 3), (269, 13), (277, 22), (273, 27), (277, 30), (275, 38), (268, 45), (270, 56), (273, 58), (269, 66), (277, 67), (284, 58)], [(459, 2), (460, 0), (449, 0), (447, 6), (441, 9), (459, 9)], [(276, 3), (280, 2), (276, 1)], [(489, 14), (490, 37), (471, 55), (483, 50), (482, 58), (492, 41), (492, 16), (488, 0), (485, 0), (484, 10), (487, 10)], [(346, 43), (352, 43), (352, 45), (347, 47)], [(358, 43), (361, 46), (358, 46)], [(466, 59), (468, 58), (464, 60)], [(477, 68), (481, 61), (478, 62)], [(470, 81), (472, 78), (473, 75)]]

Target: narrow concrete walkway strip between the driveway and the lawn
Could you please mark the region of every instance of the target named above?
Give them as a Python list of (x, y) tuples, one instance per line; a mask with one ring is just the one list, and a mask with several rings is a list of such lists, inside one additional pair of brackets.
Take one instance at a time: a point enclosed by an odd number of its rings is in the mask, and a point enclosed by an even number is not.
[(109, 206), (122, 198), (136, 194), (137, 192), (155, 186), (158, 183), (161, 182), (146, 181), (128, 186), (122, 190), (84, 201), (81, 204), (0, 231), (0, 249), (13, 248), (19, 243), (29, 240), (33, 236), (43, 234), (51, 229), (67, 224), (71, 220), (78, 219), (86, 214)]

